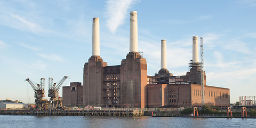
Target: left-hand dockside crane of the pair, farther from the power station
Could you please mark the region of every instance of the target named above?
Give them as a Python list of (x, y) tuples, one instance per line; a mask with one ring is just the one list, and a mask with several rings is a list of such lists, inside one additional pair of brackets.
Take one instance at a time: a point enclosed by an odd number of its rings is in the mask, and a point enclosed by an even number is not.
[(47, 109), (49, 107), (49, 102), (44, 98), (44, 80), (45, 78), (41, 78), (40, 84), (32, 82), (27, 78), (27, 81), (35, 92), (35, 108), (36, 109)]

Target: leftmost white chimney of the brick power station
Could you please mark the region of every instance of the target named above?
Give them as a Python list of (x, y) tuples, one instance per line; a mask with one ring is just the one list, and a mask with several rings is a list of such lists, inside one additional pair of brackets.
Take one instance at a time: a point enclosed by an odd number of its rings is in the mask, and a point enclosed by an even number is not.
[(100, 19), (92, 20), (92, 55), (100, 55)]

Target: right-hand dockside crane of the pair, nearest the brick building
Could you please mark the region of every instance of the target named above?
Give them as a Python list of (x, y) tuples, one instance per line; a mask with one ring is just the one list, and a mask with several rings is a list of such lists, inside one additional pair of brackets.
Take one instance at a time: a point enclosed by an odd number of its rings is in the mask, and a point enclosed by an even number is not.
[(53, 78), (49, 78), (49, 91), (48, 97), (50, 97), (50, 108), (63, 108), (62, 98), (59, 97), (59, 90), (61, 85), (65, 82), (68, 76), (64, 76), (59, 82), (53, 83)]

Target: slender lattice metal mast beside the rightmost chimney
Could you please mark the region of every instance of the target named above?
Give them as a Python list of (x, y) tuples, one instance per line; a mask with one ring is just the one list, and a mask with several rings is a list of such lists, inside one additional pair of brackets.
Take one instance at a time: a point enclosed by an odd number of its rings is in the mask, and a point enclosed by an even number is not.
[(201, 88), (202, 88), (202, 107), (204, 105), (204, 38), (200, 37), (201, 41)]

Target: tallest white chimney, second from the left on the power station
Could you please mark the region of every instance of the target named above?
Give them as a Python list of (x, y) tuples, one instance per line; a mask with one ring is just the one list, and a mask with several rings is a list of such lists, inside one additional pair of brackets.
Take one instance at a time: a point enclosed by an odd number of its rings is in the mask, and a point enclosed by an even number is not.
[(137, 11), (130, 13), (130, 52), (138, 52)]

